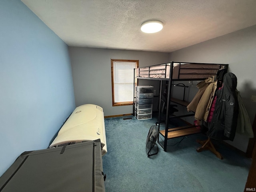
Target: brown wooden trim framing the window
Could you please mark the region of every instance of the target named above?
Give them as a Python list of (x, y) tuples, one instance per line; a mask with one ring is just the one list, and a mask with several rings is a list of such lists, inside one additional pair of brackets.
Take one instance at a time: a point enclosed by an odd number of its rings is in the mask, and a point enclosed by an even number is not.
[[(136, 62), (136, 68), (139, 67), (139, 60), (125, 60), (125, 59), (111, 59), (111, 81), (112, 81), (112, 106), (125, 106), (132, 105), (133, 101), (130, 102), (114, 102), (114, 68), (113, 62)], [(135, 83), (137, 83), (137, 79), (135, 79)]]

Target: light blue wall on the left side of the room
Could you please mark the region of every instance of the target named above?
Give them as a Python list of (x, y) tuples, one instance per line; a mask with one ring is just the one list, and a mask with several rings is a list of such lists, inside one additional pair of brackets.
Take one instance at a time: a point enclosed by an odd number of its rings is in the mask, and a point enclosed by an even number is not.
[(47, 148), (74, 108), (68, 46), (20, 0), (1, 0), (0, 175)]

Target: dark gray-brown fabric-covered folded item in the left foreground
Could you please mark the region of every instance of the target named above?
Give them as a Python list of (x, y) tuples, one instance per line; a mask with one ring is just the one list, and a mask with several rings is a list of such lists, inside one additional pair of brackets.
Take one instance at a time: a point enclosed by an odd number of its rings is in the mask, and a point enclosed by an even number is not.
[(22, 153), (1, 192), (105, 192), (100, 140)]

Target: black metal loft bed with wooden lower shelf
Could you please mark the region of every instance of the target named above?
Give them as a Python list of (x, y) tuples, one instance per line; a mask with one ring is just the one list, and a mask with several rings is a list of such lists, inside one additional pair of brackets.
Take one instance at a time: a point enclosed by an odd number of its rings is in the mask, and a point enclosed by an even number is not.
[[(187, 116), (194, 116), (194, 112), (189, 114), (184, 114), (180, 116), (170, 116), (169, 106), (173, 102), (181, 106), (188, 106), (189, 102), (185, 101), (184, 94), (183, 99), (172, 98), (172, 87), (180, 86), (185, 89), (188, 86), (185, 86), (182, 83), (174, 84), (174, 82), (179, 81), (194, 81), (194, 80), (205, 80), (208, 77), (216, 76), (218, 70), (222, 68), (228, 68), (228, 64), (212, 64), (212, 63), (188, 63), (188, 62), (169, 62), (165, 64), (146, 66), (142, 68), (137, 68), (134, 70), (134, 86), (137, 86), (138, 79), (148, 79), (148, 80), (159, 80), (160, 81), (160, 90), (159, 90), (159, 112), (158, 112), (158, 122), (161, 119), (161, 100), (162, 100), (162, 88), (163, 82), (167, 82), (167, 105), (166, 105), (166, 118), (165, 118), (165, 129), (160, 130), (160, 123), (158, 123), (158, 143), (164, 149), (167, 150), (167, 141), (172, 138), (177, 138), (181, 136), (186, 136), (190, 134), (196, 134), (201, 132), (200, 128), (186, 122), (186, 126), (180, 126), (176, 128), (169, 128), (169, 120), (171, 118), (182, 118)], [(135, 88), (136, 89), (136, 88)], [(134, 90), (135, 90), (134, 89)], [(136, 103), (136, 97), (134, 97), (134, 104)], [(135, 107), (134, 107), (135, 110)], [(164, 137), (164, 144), (159, 142), (159, 137)]]

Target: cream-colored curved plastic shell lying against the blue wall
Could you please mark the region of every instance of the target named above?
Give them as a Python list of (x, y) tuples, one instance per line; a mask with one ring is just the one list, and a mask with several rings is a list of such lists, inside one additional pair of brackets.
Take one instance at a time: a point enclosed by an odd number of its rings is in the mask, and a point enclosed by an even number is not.
[(100, 139), (102, 156), (107, 153), (103, 109), (94, 104), (78, 106), (60, 128), (50, 148)]

